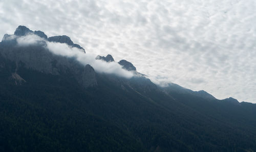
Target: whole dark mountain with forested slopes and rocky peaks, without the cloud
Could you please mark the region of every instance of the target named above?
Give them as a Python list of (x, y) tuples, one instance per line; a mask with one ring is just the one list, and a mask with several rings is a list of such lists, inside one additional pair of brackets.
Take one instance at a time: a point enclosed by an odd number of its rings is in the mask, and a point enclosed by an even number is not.
[(43, 32), (19, 46), (38, 32), (16, 31), (0, 42), (1, 151), (256, 151), (255, 104), (97, 72), (52, 53)]

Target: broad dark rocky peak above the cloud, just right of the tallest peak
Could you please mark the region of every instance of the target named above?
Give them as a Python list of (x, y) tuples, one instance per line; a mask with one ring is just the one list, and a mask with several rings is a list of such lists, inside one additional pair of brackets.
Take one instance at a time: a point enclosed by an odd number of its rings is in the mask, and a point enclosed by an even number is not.
[[(70, 39), (70, 37), (66, 36), (66, 35), (62, 35), (62, 36), (52, 36), (48, 38), (48, 41), (52, 41), (52, 42), (60, 42), (61, 44), (67, 44), (69, 46), (78, 48), (78, 49), (82, 49), (84, 51), (84, 49), (82, 47), (80, 47), (77, 44), (74, 44), (74, 42)], [(86, 51), (84, 51), (84, 53), (86, 53)]]

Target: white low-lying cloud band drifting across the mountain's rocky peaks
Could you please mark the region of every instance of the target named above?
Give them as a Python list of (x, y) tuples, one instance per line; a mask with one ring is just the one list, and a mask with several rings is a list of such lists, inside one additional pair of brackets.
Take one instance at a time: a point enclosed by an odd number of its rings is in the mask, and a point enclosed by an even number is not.
[[(14, 37), (13, 37), (14, 38)], [(131, 78), (133, 73), (122, 69), (122, 66), (117, 62), (105, 62), (103, 60), (96, 60), (95, 54), (86, 54), (83, 50), (71, 47), (67, 44), (62, 44), (59, 42), (49, 42), (44, 38), (41, 38), (35, 34), (28, 34), (26, 36), (21, 36), (16, 39), (18, 46), (29, 46), (29, 45), (44, 45), (50, 52), (55, 55), (73, 57), (77, 61), (82, 63), (84, 66), (90, 64), (96, 72), (115, 74), (117, 76)]]

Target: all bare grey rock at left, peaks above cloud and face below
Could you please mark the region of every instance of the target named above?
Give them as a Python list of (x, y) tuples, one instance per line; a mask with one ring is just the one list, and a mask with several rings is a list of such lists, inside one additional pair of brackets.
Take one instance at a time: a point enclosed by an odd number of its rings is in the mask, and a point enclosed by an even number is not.
[[(55, 55), (44, 47), (44, 45), (17, 46), (15, 45), (16, 38), (8, 40), (11, 36), (19, 37), (29, 33), (47, 39), (47, 35), (45, 35), (44, 32), (33, 32), (24, 26), (19, 26), (16, 29), (15, 34), (17, 35), (5, 34), (0, 43), (0, 59), (3, 58), (0, 60), (0, 71), (5, 68), (5, 62), (3, 62), (3, 60), (7, 59), (14, 63), (16, 71), (21, 68), (26, 68), (44, 74), (67, 75), (71, 76), (71, 78), (75, 78), (76, 81), (85, 88), (97, 85), (95, 71), (90, 65), (84, 66), (74, 58)], [(50, 40), (65, 42), (75, 47), (79, 46), (73, 44), (73, 41), (68, 36), (56, 36), (55, 38), (50, 38)], [(16, 84), (26, 82), (16, 71), (12, 72), (10, 78), (14, 80)]]

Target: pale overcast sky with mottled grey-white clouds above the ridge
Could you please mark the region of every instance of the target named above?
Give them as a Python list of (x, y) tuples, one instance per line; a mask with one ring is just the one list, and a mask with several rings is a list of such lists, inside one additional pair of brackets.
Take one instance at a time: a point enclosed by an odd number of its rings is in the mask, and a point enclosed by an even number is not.
[(0, 0), (0, 37), (19, 25), (68, 35), (159, 82), (256, 103), (256, 2)]

